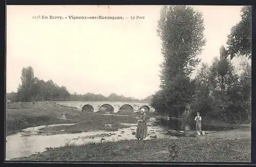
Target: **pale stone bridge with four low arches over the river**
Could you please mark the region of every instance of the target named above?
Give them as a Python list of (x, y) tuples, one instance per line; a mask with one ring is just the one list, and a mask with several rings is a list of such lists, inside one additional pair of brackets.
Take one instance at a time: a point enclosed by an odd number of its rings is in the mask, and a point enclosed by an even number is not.
[(112, 112), (117, 113), (124, 106), (130, 106), (133, 112), (139, 111), (144, 108), (146, 112), (155, 112), (155, 108), (151, 107), (150, 103), (146, 102), (125, 102), (125, 101), (55, 101), (58, 105), (76, 107), (81, 111), (86, 111), (91, 108), (93, 112), (100, 109), (112, 108)]

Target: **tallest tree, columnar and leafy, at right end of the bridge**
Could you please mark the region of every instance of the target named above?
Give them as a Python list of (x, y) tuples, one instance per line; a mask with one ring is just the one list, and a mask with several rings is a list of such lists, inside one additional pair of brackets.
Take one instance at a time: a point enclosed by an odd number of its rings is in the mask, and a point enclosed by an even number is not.
[[(158, 109), (164, 99), (165, 110), (172, 108), (179, 114), (179, 108), (191, 100), (193, 86), (191, 87), (189, 75), (198, 65), (198, 55), (205, 44), (204, 20), (202, 13), (188, 6), (164, 6), (161, 9), (157, 34), (162, 40), (161, 64), (162, 91), (153, 98), (152, 105)], [(161, 97), (161, 98), (159, 98)]]

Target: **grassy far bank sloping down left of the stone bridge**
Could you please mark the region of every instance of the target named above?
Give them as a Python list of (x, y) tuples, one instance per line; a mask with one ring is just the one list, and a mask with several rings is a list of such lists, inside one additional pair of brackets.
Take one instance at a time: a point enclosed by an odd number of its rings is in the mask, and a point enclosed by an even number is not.
[[(13, 104), (17, 106), (17, 104)], [(65, 118), (61, 118), (65, 115)], [(119, 123), (136, 123), (133, 116), (101, 115), (93, 113), (83, 113), (72, 107), (58, 106), (51, 102), (23, 103), (22, 106), (7, 108), (6, 110), (6, 134), (14, 134), (28, 127), (51, 124), (70, 124), (72, 126), (47, 127), (46, 132), (58, 133), (78, 133), (90, 130), (117, 130), (125, 126)], [(112, 124), (111, 127), (105, 124)], [(61, 132), (61, 129), (65, 132)]]

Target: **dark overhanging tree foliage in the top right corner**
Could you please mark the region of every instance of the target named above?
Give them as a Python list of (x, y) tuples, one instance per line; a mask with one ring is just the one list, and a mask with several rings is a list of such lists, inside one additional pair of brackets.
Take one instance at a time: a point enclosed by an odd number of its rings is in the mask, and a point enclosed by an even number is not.
[(234, 56), (246, 56), (251, 59), (251, 6), (245, 6), (241, 10), (241, 21), (232, 27), (227, 40), (227, 49), (230, 58)]

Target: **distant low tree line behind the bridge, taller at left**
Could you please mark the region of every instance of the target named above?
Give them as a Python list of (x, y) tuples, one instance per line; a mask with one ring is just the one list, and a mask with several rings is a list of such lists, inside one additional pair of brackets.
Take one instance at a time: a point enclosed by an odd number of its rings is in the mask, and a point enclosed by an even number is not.
[(32, 102), (32, 101), (144, 101), (151, 102), (152, 96), (148, 96), (143, 100), (132, 97), (119, 96), (111, 93), (105, 97), (102, 94), (86, 93), (77, 94), (70, 93), (65, 86), (58, 86), (53, 80), (44, 81), (34, 77), (34, 71), (31, 66), (22, 69), (20, 76), (21, 83), (18, 85), (17, 92), (7, 93), (7, 99), (11, 102)]

